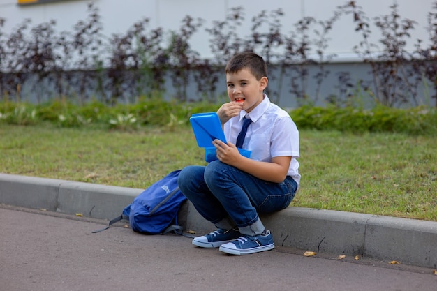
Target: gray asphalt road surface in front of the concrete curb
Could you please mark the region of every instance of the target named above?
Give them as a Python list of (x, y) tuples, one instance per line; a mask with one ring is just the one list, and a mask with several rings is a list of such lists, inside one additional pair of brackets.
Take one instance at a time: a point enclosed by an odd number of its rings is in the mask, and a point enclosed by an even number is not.
[(3, 205), (0, 290), (437, 290), (433, 269), (281, 247), (225, 255), (120, 223), (91, 233), (104, 223)]

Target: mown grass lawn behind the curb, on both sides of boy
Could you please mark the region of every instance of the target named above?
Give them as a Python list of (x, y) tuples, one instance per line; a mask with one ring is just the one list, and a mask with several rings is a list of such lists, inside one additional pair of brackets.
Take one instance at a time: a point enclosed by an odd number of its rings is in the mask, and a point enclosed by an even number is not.
[[(292, 206), (437, 221), (437, 137), (300, 130)], [(205, 164), (189, 126), (135, 132), (0, 125), (0, 172), (146, 188)]]

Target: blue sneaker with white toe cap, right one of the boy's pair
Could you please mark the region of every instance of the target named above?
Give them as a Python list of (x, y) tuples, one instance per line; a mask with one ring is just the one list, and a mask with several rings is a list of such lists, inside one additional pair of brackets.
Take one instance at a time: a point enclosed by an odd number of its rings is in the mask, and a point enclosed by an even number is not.
[(230, 253), (231, 255), (244, 255), (246, 253), (269, 251), (273, 248), (273, 236), (270, 230), (267, 230), (265, 233), (256, 235), (255, 237), (244, 235), (228, 244), (222, 244), (219, 250), (224, 253)]

